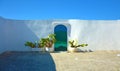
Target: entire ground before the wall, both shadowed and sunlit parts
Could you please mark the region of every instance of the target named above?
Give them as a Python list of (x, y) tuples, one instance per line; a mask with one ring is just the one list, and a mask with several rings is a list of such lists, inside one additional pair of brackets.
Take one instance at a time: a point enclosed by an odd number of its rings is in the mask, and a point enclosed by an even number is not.
[(120, 71), (120, 51), (5, 52), (0, 71)]

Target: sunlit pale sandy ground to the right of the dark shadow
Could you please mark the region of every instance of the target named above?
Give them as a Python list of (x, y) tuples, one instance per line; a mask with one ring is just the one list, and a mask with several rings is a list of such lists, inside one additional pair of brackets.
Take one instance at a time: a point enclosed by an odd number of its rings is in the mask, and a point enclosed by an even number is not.
[(120, 51), (51, 53), (57, 71), (120, 71)]

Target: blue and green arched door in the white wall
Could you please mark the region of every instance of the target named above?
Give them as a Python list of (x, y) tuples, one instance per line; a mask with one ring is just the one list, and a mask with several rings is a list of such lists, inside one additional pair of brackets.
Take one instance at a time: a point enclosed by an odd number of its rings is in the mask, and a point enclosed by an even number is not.
[(55, 51), (67, 51), (67, 28), (64, 25), (57, 25), (54, 28), (56, 34), (56, 42), (54, 44)]

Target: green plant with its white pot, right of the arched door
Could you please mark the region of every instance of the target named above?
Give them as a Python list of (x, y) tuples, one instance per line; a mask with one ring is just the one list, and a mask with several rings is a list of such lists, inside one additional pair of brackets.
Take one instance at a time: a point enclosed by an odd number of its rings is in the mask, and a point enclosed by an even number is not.
[(88, 46), (88, 44), (78, 44), (77, 41), (71, 40), (71, 41), (69, 41), (68, 51), (69, 52), (78, 52), (79, 51), (78, 47), (85, 47), (85, 46)]

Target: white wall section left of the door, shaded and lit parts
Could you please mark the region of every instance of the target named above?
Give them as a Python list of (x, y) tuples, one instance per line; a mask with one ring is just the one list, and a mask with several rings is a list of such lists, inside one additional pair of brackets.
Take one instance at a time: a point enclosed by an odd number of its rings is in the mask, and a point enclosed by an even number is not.
[(26, 41), (38, 41), (52, 33), (51, 21), (0, 19), (0, 53), (4, 51), (31, 51)]

